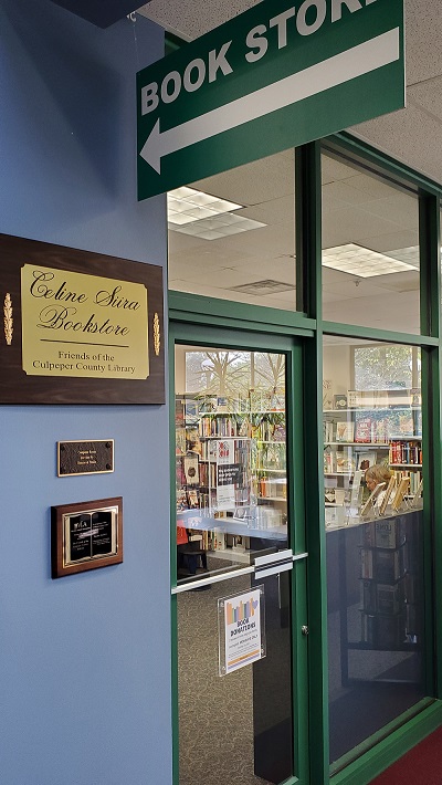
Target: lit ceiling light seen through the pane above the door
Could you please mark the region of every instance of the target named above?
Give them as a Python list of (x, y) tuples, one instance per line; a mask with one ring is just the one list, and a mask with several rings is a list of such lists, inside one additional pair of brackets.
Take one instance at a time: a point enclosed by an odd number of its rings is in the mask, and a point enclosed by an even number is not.
[(202, 240), (218, 240), (266, 226), (260, 221), (233, 214), (234, 210), (242, 207), (242, 205), (197, 191), (193, 188), (177, 188), (167, 195), (169, 229), (182, 234), (192, 234)]

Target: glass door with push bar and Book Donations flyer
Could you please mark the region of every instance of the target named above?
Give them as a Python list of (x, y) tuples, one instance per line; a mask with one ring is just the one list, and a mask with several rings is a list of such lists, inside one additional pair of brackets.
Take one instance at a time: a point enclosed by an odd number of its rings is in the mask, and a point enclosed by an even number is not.
[(301, 347), (267, 349), (175, 346), (177, 785), (308, 782)]

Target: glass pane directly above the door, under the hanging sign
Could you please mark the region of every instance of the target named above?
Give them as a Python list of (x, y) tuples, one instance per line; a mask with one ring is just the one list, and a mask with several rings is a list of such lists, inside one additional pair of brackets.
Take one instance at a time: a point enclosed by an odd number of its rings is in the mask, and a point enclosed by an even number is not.
[(169, 192), (169, 289), (294, 311), (294, 182), (286, 150)]

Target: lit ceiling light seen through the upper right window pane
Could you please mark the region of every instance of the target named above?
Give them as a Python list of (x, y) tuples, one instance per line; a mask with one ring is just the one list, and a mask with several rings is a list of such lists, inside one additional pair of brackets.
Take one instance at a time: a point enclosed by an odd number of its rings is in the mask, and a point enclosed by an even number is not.
[(357, 245), (354, 242), (325, 249), (323, 251), (323, 265), (357, 278), (375, 278), (409, 270), (417, 271), (415, 263), (402, 262), (392, 255), (370, 251), (368, 248), (362, 248), (362, 245)]

